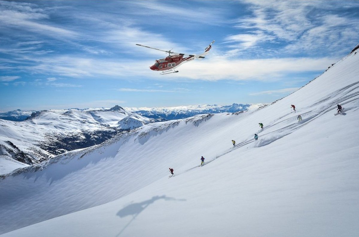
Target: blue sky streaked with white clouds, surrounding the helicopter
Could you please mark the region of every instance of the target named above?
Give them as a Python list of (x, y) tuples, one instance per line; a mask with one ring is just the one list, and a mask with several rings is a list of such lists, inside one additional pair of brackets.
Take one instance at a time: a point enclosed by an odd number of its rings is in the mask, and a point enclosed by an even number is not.
[[(358, 42), (359, 1), (3, 1), (0, 111), (270, 103)], [(204, 60), (151, 71), (165, 53)]]

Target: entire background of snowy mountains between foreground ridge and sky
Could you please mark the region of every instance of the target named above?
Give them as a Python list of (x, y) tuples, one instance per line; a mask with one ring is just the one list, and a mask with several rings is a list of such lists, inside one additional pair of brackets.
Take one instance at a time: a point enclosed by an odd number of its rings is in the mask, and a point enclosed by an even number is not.
[[(196, 105), (157, 108), (71, 108), (0, 113), (0, 160), (36, 164), (64, 152), (87, 148), (145, 124), (199, 114), (234, 113), (260, 106)], [(0, 170), (1, 173), (1, 170)]]

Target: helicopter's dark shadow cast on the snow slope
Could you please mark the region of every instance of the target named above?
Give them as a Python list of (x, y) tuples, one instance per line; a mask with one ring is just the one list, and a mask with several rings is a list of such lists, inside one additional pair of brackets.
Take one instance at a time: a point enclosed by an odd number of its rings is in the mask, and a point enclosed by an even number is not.
[(186, 199), (176, 199), (167, 197), (166, 195), (162, 196), (153, 196), (151, 199), (145, 200), (140, 203), (131, 203), (125, 207), (123, 207), (121, 210), (117, 212), (117, 216), (120, 218), (125, 218), (127, 216), (132, 216), (132, 219), (127, 223), (120, 233), (117, 234), (116, 237), (120, 236), (122, 232), (131, 224), (131, 222), (141, 213), (143, 210), (145, 210), (149, 205), (153, 204), (155, 201), (163, 199), (165, 201), (187, 201)]

